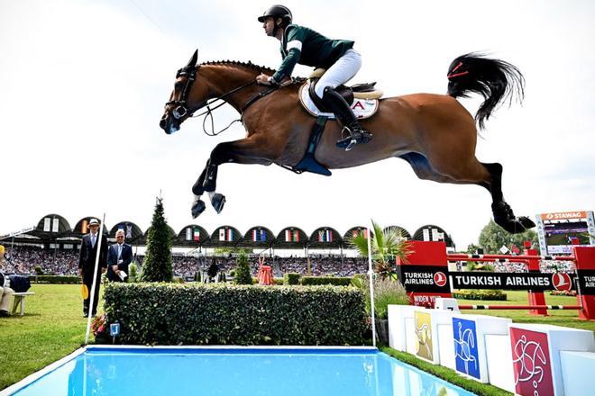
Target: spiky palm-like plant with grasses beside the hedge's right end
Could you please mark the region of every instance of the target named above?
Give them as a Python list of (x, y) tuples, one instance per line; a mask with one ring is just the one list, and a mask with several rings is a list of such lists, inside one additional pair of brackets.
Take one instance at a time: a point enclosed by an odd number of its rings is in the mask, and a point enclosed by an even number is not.
[[(398, 282), (396, 259), (405, 260), (411, 252), (410, 244), (399, 229), (382, 229), (371, 221), (371, 260), (374, 268), (374, 313), (378, 338), (382, 344), (389, 344), (389, 305), (408, 305), (409, 298), (403, 285)], [(360, 233), (350, 243), (362, 256), (368, 256), (368, 238)], [(371, 314), (370, 283), (362, 277), (355, 277), (353, 284), (361, 287), (366, 296), (366, 310)]]

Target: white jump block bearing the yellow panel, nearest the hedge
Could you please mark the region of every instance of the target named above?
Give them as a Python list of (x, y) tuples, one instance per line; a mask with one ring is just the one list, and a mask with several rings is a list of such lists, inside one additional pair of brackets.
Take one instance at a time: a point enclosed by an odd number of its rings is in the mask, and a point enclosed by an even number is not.
[[(434, 365), (453, 367), (453, 312), (417, 307), (413, 319), (413, 326), (406, 321), (407, 352)], [(441, 338), (447, 347), (441, 347)]]

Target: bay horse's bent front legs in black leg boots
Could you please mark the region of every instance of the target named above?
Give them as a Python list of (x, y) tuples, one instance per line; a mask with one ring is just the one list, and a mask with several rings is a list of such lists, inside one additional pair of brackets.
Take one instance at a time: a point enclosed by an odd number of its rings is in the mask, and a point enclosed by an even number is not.
[(217, 170), (219, 165), (225, 163), (238, 164), (270, 164), (267, 154), (268, 149), (262, 146), (262, 139), (247, 138), (219, 143), (211, 152), (211, 157), (206, 161), (205, 169), (198, 176), (197, 182), (192, 187), (195, 200), (192, 203), (192, 216), (197, 217), (205, 211), (205, 202), (201, 200), (203, 193), (209, 194), (209, 199), (217, 213), (221, 212), (225, 203), (222, 193), (215, 193), (217, 187)]

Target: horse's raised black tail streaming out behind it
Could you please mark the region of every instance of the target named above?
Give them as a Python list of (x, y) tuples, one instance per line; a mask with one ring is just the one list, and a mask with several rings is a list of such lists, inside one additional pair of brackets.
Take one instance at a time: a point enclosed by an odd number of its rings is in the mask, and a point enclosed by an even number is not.
[(499, 103), (517, 96), (518, 102), (525, 96), (525, 77), (517, 67), (499, 59), (485, 58), (471, 52), (453, 60), (448, 67), (448, 94), (469, 97), (469, 93), (481, 94), (485, 99), (475, 114), (475, 121), (484, 129), (485, 121)]

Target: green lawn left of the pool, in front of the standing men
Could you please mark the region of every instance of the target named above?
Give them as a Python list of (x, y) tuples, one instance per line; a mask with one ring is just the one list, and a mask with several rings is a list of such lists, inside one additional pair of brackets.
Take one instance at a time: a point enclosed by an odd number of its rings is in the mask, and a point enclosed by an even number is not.
[[(35, 295), (26, 298), (23, 317), (17, 313), (0, 318), (0, 389), (69, 355), (85, 341), (79, 284), (32, 284), (29, 292)], [(102, 311), (101, 302), (97, 311)]]

